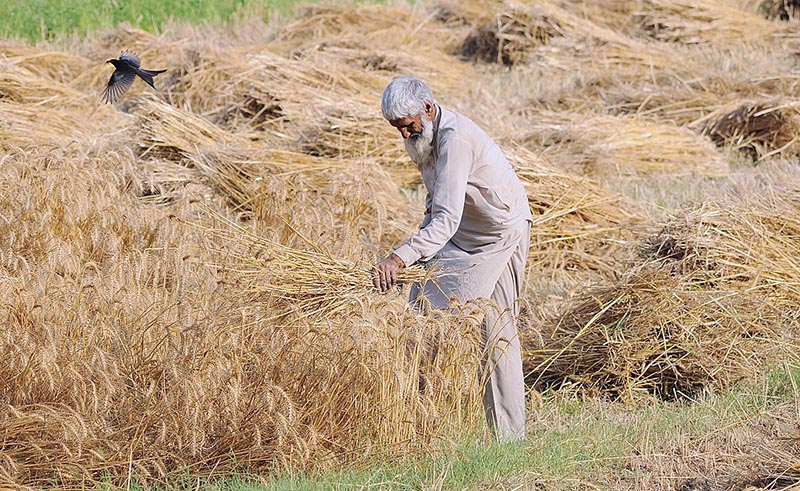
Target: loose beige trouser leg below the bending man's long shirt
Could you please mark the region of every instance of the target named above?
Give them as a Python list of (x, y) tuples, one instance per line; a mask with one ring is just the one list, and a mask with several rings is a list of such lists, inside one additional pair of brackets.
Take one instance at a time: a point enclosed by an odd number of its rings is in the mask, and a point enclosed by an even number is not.
[(498, 308), (490, 309), (484, 320), (483, 407), (492, 434), (501, 442), (525, 438), (525, 381), (516, 317), (529, 245), (530, 233), (520, 240), (500, 274), (491, 296)]

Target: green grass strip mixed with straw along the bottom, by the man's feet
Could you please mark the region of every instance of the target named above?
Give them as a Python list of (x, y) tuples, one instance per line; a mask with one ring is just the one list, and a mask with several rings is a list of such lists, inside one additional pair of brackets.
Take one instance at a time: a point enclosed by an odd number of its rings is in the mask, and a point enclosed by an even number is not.
[[(405, 463), (375, 463), (323, 475), (191, 481), (170, 489), (662, 489), (670, 480), (686, 479), (700, 465), (692, 459), (702, 462), (714, 451), (724, 459), (733, 451), (731, 440), (760, 441), (758, 428), (764, 421), (797, 414), (799, 386), (800, 366), (787, 364), (759, 383), (694, 402), (654, 400), (624, 407), (551, 394), (534, 410), (533, 429), (521, 444), (470, 442)], [(737, 458), (747, 461), (746, 455)]]

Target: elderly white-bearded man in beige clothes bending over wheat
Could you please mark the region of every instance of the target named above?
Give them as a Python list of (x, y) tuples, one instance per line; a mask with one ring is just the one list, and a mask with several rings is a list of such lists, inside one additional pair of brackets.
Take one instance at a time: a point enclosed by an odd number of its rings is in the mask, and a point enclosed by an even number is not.
[(525, 385), (514, 317), (530, 244), (525, 189), (486, 132), (437, 105), (422, 80), (392, 80), (381, 110), (405, 140), (428, 194), (419, 231), (375, 265), (375, 287), (388, 290), (400, 268), (423, 261), (438, 275), (412, 288), (416, 305), (494, 302), (497, 308), (487, 309), (484, 320), (483, 405), (500, 441), (524, 438)]

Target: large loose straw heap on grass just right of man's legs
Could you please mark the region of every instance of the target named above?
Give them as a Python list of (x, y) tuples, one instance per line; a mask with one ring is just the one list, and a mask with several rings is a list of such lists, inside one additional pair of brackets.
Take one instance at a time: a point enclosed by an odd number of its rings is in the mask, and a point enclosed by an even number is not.
[(753, 375), (783, 312), (760, 295), (708, 290), (653, 267), (575, 298), (527, 350), (528, 381), (633, 401), (692, 398)]

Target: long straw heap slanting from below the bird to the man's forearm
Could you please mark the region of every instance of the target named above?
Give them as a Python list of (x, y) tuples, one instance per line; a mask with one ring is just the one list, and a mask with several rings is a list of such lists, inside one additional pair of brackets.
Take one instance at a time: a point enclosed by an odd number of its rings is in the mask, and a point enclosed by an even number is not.
[(413, 230), (407, 201), (375, 163), (263, 148), (155, 100), (142, 101), (136, 113), (143, 155), (196, 168), (234, 210), (278, 230), (294, 223), (341, 246), (369, 237), (385, 247)]

